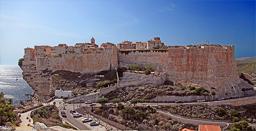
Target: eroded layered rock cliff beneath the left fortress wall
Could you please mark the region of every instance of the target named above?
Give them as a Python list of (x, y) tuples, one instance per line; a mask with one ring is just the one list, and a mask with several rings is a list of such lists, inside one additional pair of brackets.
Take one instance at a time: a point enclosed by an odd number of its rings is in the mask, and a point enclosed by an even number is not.
[(36, 70), (35, 61), (23, 61), (23, 79), (33, 89), (33, 95), (39, 100), (48, 100), (54, 96), (54, 91), (73, 90), (83, 91), (93, 88), (96, 81), (100, 80), (95, 73), (72, 73), (66, 70)]

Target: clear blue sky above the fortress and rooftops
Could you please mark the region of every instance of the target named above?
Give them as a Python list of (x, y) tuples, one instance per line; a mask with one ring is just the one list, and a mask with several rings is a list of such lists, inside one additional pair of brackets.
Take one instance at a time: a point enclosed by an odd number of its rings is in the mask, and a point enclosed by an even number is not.
[[(166, 45), (235, 45), (255, 56), (255, 1), (0, 1), (0, 64), (17, 64), (24, 48), (118, 44), (161, 37)], [(231, 40), (231, 43), (230, 43)]]

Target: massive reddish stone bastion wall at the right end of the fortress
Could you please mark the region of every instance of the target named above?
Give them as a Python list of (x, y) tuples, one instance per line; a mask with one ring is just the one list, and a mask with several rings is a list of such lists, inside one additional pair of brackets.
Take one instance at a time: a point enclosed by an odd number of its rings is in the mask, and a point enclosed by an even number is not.
[(234, 46), (169, 48), (167, 78), (210, 89), (239, 78)]

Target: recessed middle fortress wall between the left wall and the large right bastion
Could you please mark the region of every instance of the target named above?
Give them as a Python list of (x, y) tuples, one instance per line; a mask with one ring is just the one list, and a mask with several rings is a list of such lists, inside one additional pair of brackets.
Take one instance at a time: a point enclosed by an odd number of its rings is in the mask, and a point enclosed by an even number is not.
[(119, 67), (126, 67), (127, 69), (131, 64), (147, 67), (149, 65), (160, 67), (162, 71), (166, 66), (168, 50), (119, 50), (118, 63)]

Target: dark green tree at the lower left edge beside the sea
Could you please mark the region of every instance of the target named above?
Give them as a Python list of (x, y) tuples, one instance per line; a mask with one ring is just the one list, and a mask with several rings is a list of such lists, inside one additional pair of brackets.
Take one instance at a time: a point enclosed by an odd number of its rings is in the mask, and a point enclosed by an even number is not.
[[(14, 106), (11, 106), (13, 103), (12, 99), (4, 99), (4, 93), (0, 94), (0, 116), (1, 116), (1, 126), (5, 125), (5, 122), (13, 123), (16, 121), (16, 114), (13, 113)], [(11, 126), (11, 125), (10, 125)]]

